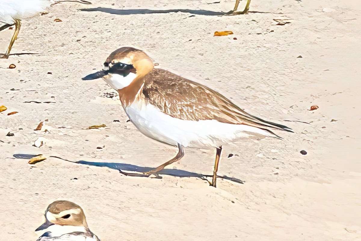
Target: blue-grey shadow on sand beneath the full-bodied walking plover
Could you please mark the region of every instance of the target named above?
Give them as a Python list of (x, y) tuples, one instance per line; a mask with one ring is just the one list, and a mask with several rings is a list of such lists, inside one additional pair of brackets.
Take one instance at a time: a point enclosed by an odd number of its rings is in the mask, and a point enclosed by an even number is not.
[[(14, 154), (13, 157), (15, 158), (19, 158), (19, 159), (30, 159), (35, 157), (36, 155), (29, 155), (29, 154)], [(51, 157), (55, 157), (55, 156), (51, 156)], [(69, 161), (60, 157), (55, 157), (55, 158), (59, 158), (62, 159), (64, 161)], [(69, 161), (69, 162), (73, 162), (73, 161)], [(114, 170), (118, 170), (119, 172), (123, 172), (123, 171), (136, 171), (136, 172), (148, 172), (151, 171), (154, 167), (140, 167), (140, 166), (136, 166), (136, 165), (132, 165), (132, 164), (127, 164), (127, 163), (113, 163), (113, 162), (88, 162), (88, 161), (76, 161), (73, 163), (78, 163), (78, 164), (82, 164), (82, 165), (88, 165), (88, 166), (96, 166), (96, 167), (108, 167), (108, 168), (112, 168)], [(194, 178), (200, 178), (203, 180), (207, 180), (207, 178), (212, 177), (213, 175), (203, 175), (200, 173), (196, 173), (196, 172), (189, 172), (189, 171), (184, 171), (184, 170), (178, 170), (178, 169), (163, 169), (161, 171), (158, 172), (158, 174), (160, 175), (169, 175), (169, 176), (177, 176), (177, 177), (194, 177)], [(217, 176), (218, 178), (222, 178), (222, 179), (226, 179), (226, 180), (230, 180), (230, 181), (234, 181), (236, 183), (241, 183), (244, 184), (244, 181), (237, 179), (237, 178), (230, 178), (228, 176)]]

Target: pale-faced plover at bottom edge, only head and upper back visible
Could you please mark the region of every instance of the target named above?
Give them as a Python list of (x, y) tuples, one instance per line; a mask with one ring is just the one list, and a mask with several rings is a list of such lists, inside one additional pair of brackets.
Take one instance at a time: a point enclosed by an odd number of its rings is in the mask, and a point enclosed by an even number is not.
[(83, 209), (73, 202), (55, 201), (45, 211), (45, 223), (35, 231), (46, 230), (37, 241), (100, 241), (89, 228)]

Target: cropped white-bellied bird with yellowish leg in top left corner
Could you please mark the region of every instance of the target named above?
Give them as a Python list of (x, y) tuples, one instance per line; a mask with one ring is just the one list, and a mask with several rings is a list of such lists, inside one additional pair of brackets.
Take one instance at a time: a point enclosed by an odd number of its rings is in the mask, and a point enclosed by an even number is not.
[[(77, 1), (77, 0), (73, 0)], [(45, 8), (62, 1), (54, 0), (0, 0), (0, 31), (15, 25), (14, 35), (10, 40), (8, 50), (5, 54), (0, 54), (0, 58), (8, 58), (11, 48), (19, 34), (21, 19), (30, 18), (35, 14), (43, 12)], [(91, 4), (88, 1), (78, 0), (79, 3)]]

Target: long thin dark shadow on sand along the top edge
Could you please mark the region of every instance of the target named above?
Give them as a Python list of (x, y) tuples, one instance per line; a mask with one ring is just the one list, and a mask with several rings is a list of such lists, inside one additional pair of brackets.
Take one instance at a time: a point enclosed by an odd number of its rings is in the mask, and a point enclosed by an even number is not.
[(113, 9), (113, 8), (83, 8), (81, 11), (93, 12), (99, 11), (110, 14), (118, 14), (118, 15), (131, 15), (131, 14), (149, 14), (149, 13), (190, 13), (197, 15), (205, 15), (205, 16), (220, 16), (227, 15), (229, 13), (223, 12), (213, 12), (208, 10), (192, 10), (192, 9), (169, 9), (169, 10), (150, 10), (150, 9)]

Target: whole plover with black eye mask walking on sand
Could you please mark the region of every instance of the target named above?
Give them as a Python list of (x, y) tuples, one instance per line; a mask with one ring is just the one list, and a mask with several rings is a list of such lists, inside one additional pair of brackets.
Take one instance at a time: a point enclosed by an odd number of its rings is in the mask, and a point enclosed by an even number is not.
[(103, 78), (116, 89), (130, 121), (144, 135), (178, 147), (168, 162), (144, 174), (157, 172), (178, 161), (183, 147), (216, 148), (212, 186), (216, 178), (222, 145), (252, 136), (280, 138), (271, 129), (292, 132), (287, 126), (246, 113), (220, 93), (167, 70), (155, 69), (143, 51), (119, 48), (109, 55), (104, 69), (83, 80)]

